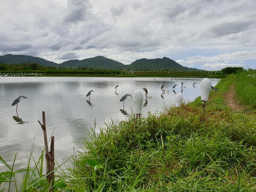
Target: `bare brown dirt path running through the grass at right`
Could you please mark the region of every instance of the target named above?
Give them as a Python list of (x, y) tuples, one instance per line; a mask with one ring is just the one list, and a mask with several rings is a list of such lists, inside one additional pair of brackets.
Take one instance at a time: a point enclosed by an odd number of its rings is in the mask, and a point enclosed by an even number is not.
[(230, 86), (230, 90), (225, 94), (225, 102), (227, 106), (230, 106), (230, 108), (234, 111), (242, 111), (244, 110), (244, 106), (239, 104), (238, 100), (236, 99), (236, 90), (234, 85)]

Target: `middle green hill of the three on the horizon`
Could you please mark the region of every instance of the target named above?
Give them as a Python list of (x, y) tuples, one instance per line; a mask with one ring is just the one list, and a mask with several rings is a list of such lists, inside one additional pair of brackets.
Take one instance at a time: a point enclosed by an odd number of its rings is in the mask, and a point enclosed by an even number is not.
[(126, 65), (114, 61), (112, 59), (105, 58), (103, 56), (96, 56), (94, 58), (88, 58), (83, 60), (68, 60), (60, 64), (64, 68), (78, 68), (80, 67), (91, 67), (99, 69), (124, 69)]

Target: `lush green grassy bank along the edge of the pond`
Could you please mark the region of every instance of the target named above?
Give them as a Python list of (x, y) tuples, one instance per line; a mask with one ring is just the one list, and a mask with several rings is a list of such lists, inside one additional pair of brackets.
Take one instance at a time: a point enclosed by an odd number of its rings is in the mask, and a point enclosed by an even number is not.
[[(230, 86), (246, 112), (226, 105)], [(137, 122), (131, 114), (100, 132), (92, 128), (72, 166), (56, 164), (55, 191), (255, 191), (256, 70), (226, 74), (215, 88), (205, 113), (198, 97)], [(15, 158), (8, 165), (0, 156), (8, 168), (0, 172), (0, 191), (48, 191), (44, 151), (36, 159), (31, 151), (28, 167), (14, 170)]]

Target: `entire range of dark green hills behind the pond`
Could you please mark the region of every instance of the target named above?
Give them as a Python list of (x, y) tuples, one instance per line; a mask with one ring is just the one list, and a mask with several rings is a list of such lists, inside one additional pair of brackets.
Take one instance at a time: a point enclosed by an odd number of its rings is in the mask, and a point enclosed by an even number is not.
[(139, 59), (132, 62), (130, 65), (124, 65), (120, 62), (112, 59), (105, 58), (103, 56), (96, 56), (94, 58), (87, 58), (83, 60), (68, 60), (57, 64), (43, 58), (27, 56), (27, 55), (13, 55), (6, 54), (0, 56), (0, 62), (5, 64), (21, 64), (26, 62), (34, 62), (43, 66), (55, 66), (57, 68), (98, 68), (98, 69), (109, 69), (109, 70), (181, 70), (181, 71), (194, 71), (196, 68), (184, 67), (170, 58), (156, 58), (156, 59)]

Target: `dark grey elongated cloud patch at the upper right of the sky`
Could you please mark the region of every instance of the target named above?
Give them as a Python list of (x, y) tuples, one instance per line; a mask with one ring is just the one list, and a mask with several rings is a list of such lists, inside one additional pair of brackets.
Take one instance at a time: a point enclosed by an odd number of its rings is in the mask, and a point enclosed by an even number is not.
[(244, 21), (222, 22), (213, 26), (210, 31), (214, 33), (214, 36), (220, 37), (245, 31), (249, 29), (252, 24), (253, 22)]

